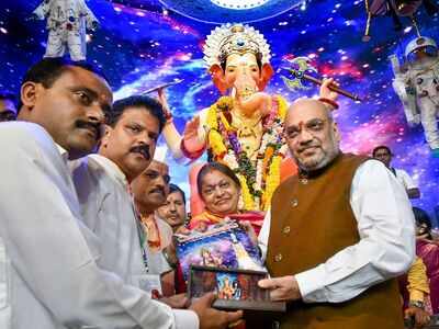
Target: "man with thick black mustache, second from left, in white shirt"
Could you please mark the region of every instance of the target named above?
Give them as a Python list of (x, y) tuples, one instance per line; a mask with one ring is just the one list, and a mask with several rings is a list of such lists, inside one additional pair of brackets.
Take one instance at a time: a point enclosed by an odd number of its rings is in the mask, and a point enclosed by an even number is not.
[[(164, 124), (162, 107), (157, 101), (142, 95), (119, 100), (106, 116), (99, 155), (70, 163), (83, 222), (101, 242), (98, 264), (140, 288), (158, 282), (149, 275), (150, 260), (130, 183), (150, 163)], [(211, 295), (192, 304), (194, 311), (148, 302), (144, 306), (149, 317), (147, 328), (225, 328), (240, 317), (238, 313), (212, 309)], [(159, 316), (164, 313), (167, 316)]]

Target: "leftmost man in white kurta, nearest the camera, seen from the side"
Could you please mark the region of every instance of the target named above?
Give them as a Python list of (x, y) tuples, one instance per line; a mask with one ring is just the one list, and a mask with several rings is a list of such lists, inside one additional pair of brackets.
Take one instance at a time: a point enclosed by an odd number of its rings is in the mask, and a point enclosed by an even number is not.
[(19, 121), (0, 125), (0, 328), (153, 328), (170, 309), (97, 263), (68, 160), (90, 154), (111, 107), (91, 66), (44, 59), (25, 75)]

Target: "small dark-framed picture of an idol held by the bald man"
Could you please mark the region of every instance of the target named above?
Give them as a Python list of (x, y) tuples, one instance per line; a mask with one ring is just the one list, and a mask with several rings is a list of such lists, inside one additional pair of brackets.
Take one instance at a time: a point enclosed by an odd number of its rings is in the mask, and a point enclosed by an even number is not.
[(268, 273), (260, 271), (191, 265), (188, 297), (213, 292), (217, 295), (213, 304), (216, 308), (285, 311), (285, 303), (272, 302), (270, 292), (258, 286), (258, 281), (266, 277)]

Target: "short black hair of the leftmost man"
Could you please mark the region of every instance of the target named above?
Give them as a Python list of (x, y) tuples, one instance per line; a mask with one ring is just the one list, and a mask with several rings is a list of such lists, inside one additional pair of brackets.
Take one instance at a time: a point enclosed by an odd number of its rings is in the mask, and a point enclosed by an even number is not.
[[(42, 60), (34, 64), (24, 75), (21, 86), (23, 86), (25, 82), (35, 82), (43, 84), (43, 87), (46, 89), (50, 88), (54, 82), (68, 69), (69, 66), (83, 68), (85, 70), (102, 77), (105, 81), (109, 81), (103, 72), (90, 63), (87, 63), (85, 60), (72, 61), (67, 58), (56, 57), (43, 58)], [(18, 112), (20, 112), (23, 103), (20, 100)]]

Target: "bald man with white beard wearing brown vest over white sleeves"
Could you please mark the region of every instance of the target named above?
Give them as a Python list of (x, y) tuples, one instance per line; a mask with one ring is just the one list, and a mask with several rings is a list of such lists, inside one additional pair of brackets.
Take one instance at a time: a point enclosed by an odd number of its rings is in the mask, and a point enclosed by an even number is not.
[(284, 134), (300, 171), (274, 192), (259, 236), (273, 276), (259, 285), (291, 305), (274, 325), (403, 328), (393, 277), (415, 249), (404, 189), (380, 161), (340, 151), (337, 124), (317, 100), (291, 105)]

